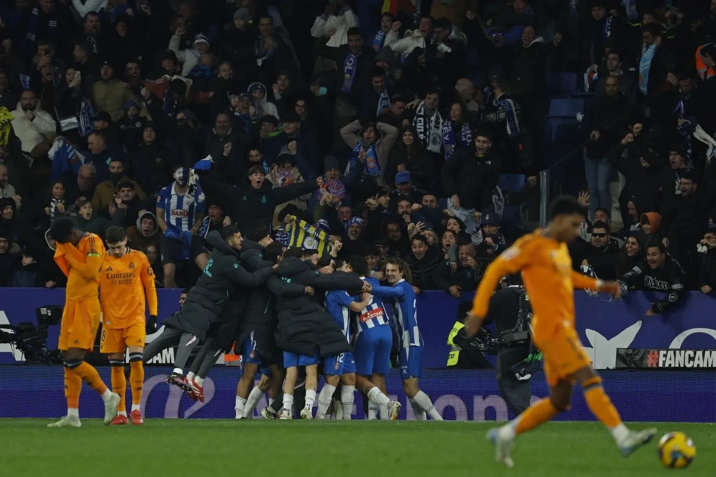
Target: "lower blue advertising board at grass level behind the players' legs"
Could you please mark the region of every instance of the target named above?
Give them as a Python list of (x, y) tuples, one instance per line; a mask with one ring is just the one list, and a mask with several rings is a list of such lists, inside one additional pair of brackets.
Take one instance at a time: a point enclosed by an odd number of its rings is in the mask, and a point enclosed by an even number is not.
[[(145, 418), (226, 418), (234, 417), (236, 382), (241, 375), (238, 368), (220, 366), (204, 380), (205, 402), (195, 402), (183, 395), (176, 386), (166, 383), (172, 368), (147, 368), (142, 394)], [(105, 382), (110, 381), (110, 368), (99, 369)], [(714, 422), (716, 408), (693, 403), (710, 403), (716, 392), (716, 373), (681, 373), (659, 371), (605, 371), (604, 388), (619, 409), (624, 421)], [(3, 365), (0, 366), (0, 418), (57, 418), (66, 413), (63, 371), (59, 366)], [(319, 389), (323, 385), (319, 383)], [(412, 409), (402, 390), (400, 375), (392, 370), (386, 377), (388, 394), (401, 401), (401, 418), (412, 419)], [(493, 370), (425, 370), (420, 388), (435, 403), (446, 420), (504, 421), (513, 418), (500, 397)], [(635, 392), (635, 390), (639, 390)], [(532, 380), (533, 402), (547, 395), (548, 388), (542, 373)], [(127, 390), (127, 396), (129, 396)], [(256, 407), (266, 407), (266, 396)], [(87, 385), (82, 386), (79, 402), (82, 418), (104, 415), (102, 400)], [(362, 419), (362, 398), (356, 393), (353, 417)], [(575, 392), (569, 412), (558, 420), (591, 420), (582, 393)]]

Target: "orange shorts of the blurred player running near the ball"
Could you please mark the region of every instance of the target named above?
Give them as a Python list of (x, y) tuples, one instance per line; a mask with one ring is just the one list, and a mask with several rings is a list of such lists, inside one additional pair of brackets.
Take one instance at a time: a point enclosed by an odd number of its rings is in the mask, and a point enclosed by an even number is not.
[(544, 373), (551, 386), (562, 380), (573, 381), (571, 375), (591, 365), (574, 328), (559, 329), (538, 347), (542, 350)]

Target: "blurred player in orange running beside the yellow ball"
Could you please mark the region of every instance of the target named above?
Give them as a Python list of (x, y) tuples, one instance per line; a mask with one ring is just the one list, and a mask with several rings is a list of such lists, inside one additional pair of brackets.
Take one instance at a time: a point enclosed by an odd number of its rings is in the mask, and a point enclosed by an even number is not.
[(543, 353), (544, 371), (551, 391), (513, 421), (488, 433), (495, 445), (495, 458), (513, 466), (510, 451), (516, 436), (546, 423), (569, 409), (574, 381), (579, 381), (589, 409), (609, 428), (624, 456), (651, 441), (656, 429), (630, 431), (601, 387), (574, 329), (574, 288), (588, 288), (619, 297), (616, 282), (585, 277), (572, 269), (567, 242), (579, 235), (586, 210), (574, 197), (558, 197), (552, 205), (546, 230), (522, 237), (499, 255), (485, 270), (473, 309), (465, 320), (468, 336), (477, 333), (488, 312), (490, 297), (500, 277), (522, 271), (532, 304), (532, 340)]

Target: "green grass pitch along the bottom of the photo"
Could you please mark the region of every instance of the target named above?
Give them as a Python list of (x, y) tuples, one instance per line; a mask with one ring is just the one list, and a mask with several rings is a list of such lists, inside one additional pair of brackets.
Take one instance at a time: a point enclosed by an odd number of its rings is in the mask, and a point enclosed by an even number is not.
[[(598, 423), (548, 423), (518, 438), (515, 467), (493, 460), (495, 423), (147, 420), (79, 429), (52, 421), (0, 420), (0, 476), (445, 476), (652, 477), (656, 442), (622, 458)], [(634, 428), (646, 427), (634, 424)], [(714, 476), (716, 427), (668, 423), (697, 446), (689, 476)]]

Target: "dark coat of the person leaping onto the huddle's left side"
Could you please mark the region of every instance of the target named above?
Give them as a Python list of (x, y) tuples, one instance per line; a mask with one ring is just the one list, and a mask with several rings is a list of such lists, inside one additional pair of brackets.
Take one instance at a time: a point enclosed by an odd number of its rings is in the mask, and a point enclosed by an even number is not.
[(202, 341), (219, 315), (241, 317), (234, 308), (241, 293), (262, 285), (274, 275), (271, 267), (247, 272), (241, 266), (240, 252), (222, 240), (219, 232), (209, 232), (206, 241), (214, 247), (206, 267), (189, 290), (180, 312), (165, 321), (166, 325), (192, 333)]

